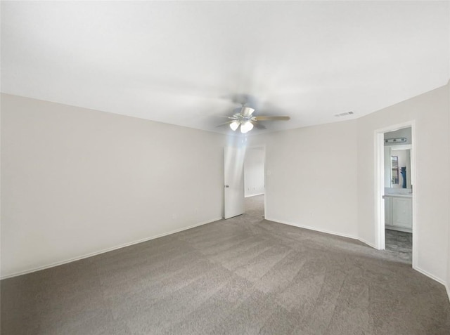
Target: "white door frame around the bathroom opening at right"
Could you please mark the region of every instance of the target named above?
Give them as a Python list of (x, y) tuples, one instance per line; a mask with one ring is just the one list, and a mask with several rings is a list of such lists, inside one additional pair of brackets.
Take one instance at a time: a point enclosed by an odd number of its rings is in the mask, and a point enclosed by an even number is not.
[(389, 131), (396, 131), (398, 129), (411, 127), (411, 185), (413, 185), (412, 206), (413, 206), (413, 250), (412, 250), (412, 266), (417, 268), (418, 260), (418, 222), (417, 222), (417, 192), (420, 190), (418, 180), (416, 178), (416, 120), (406, 121), (401, 124), (393, 124), (382, 129), (375, 130), (375, 247), (379, 250), (384, 250), (386, 247), (385, 241), (385, 202), (383, 195), (385, 194), (385, 165), (384, 165), (384, 150), (385, 150), (385, 133)]

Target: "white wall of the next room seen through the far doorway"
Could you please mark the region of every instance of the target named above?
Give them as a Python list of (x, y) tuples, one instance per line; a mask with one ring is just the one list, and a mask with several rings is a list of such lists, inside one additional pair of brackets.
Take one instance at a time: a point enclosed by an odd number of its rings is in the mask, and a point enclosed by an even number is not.
[(264, 147), (246, 150), (244, 160), (245, 197), (264, 195)]

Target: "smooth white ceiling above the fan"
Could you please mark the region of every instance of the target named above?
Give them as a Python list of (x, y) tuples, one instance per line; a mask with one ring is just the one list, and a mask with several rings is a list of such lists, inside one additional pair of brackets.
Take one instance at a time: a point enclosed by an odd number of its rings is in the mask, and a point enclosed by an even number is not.
[(1, 91), (218, 132), (237, 93), (257, 115), (290, 115), (267, 131), (341, 121), (445, 85), (449, 13), (447, 1), (1, 1)]

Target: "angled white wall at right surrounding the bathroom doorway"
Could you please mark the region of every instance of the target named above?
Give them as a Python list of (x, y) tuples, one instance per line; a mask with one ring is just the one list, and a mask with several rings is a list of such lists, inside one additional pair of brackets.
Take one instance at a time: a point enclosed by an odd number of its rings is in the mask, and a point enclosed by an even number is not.
[[(411, 98), (358, 119), (358, 235), (375, 244), (375, 130), (416, 120), (416, 197), (419, 270), (446, 281), (449, 243), (448, 87)], [(432, 164), (430, 164), (432, 162)], [(442, 171), (442, 173), (437, 173)], [(437, 187), (439, 185), (439, 187)]]

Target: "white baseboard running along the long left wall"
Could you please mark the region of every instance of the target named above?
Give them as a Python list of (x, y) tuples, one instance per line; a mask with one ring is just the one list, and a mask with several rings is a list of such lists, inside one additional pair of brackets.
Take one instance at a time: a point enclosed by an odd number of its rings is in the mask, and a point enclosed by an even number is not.
[(118, 245), (116, 247), (102, 249), (100, 251), (94, 251), (94, 252), (91, 252), (89, 254), (85, 254), (83, 256), (77, 256), (77, 257), (69, 258), (69, 259), (66, 259), (65, 261), (59, 261), (59, 262), (51, 263), (51, 264), (48, 264), (48, 265), (39, 266), (38, 268), (32, 268), (30, 270), (14, 272), (14, 273), (11, 273), (9, 275), (5, 275), (5, 276), (0, 277), (0, 280), (4, 280), (4, 279), (7, 279), (7, 278), (12, 278), (12, 277), (17, 277), (17, 276), (20, 276), (20, 275), (26, 275), (27, 273), (36, 272), (36, 271), (39, 271), (39, 270), (45, 270), (45, 269), (48, 269), (48, 268), (53, 268), (53, 267), (58, 266), (58, 265), (63, 265), (63, 264), (66, 264), (66, 263), (79, 261), (79, 260), (84, 259), (84, 258), (96, 256), (96, 255), (99, 255), (99, 254), (104, 254), (105, 252), (108, 252), (108, 251), (122, 249), (124, 247), (129, 247), (129, 246), (131, 246), (133, 244), (138, 244), (138, 243), (150, 241), (150, 239), (157, 239), (158, 237), (163, 237), (163, 236), (166, 236), (166, 235), (175, 234), (176, 232), (182, 232), (183, 230), (188, 230), (188, 229), (191, 229), (191, 228), (195, 228), (195, 227), (198, 227), (199, 225), (205, 225), (207, 223), (212, 223), (214, 221), (219, 221), (221, 219), (222, 218), (213, 218), (212, 220), (207, 220), (207, 221), (203, 221), (203, 222), (200, 222), (200, 223), (195, 223), (194, 225), (189, 225), (188, 227), (172, 230), (170, 232), (164, 232), (162, 234), (155, 235), (155, 236), (145, 237), (143, 239), (138, 239), (137, 241), (134, 241), (134, 242), (120, 244), (120, 245)]

